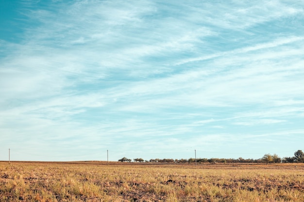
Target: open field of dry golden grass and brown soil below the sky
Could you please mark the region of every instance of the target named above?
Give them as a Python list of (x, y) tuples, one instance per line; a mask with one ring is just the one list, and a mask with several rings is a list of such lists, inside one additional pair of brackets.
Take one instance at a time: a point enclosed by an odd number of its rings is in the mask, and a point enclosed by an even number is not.
[(1, 202), (304, 202), (304, 164), (0, 162)]

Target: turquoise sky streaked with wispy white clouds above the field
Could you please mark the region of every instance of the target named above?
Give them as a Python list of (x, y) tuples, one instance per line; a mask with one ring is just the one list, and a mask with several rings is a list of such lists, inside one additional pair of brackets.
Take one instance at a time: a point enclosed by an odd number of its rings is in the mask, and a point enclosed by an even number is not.
[(304, 1), (0, 0), (0, 160), (304, 150)]

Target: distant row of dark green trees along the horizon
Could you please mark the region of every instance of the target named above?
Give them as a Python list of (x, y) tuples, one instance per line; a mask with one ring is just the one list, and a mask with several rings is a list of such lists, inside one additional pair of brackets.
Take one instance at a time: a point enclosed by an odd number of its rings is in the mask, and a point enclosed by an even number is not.
[[(304, 152), (302, 150), (298, 150), (294, 153), (292, 157), (284, 157), (281, 158), (276, 154), (270, 155), (265, 154), (262, 158), (253, 159), (248, 158), (244, 159), (239, 157), (237, 159), (234, 158), (189, 158), (189, 159), (172, 159), (172, 158), (164, 158), (164, 159), (150, 159), (144, 160), (143, 158), (134, 158), (134, 162), (151, 162), (151, 163), (304, 163)], [(120, 162), (131, 162), (132, 160), (126, 157), (119, 159)]]

